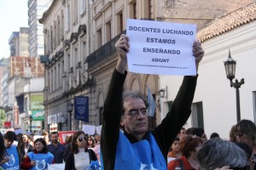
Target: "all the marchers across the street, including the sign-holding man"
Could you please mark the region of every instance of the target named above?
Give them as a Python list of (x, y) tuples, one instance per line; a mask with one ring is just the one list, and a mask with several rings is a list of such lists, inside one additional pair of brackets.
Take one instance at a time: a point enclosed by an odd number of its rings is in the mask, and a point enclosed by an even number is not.
[[(253, 170), (256, 169), (256, 126), (241, 120), (230, 128), (230, 140), (200, 127), (185, 129), (191, 114), (198, 75), (185, 76), (172, 109), (153, 130), (148, 129), (148, 103), (139, 92), (123, 91), (127, 75), (129, 37), (115, 43), (117, 65), (111, 77), (102, 112), (102, 133), (90, 136), (76, 131), (64, 144), (57, 132), (33, 140), (26, 134), (0, 134), (3, 169), (47, 169), (64, 163), (65, 170)], [(204, 55), (195, 41), (192, 53), (196, 71)], [(17, 141), (17, 142), (15, 142)]]

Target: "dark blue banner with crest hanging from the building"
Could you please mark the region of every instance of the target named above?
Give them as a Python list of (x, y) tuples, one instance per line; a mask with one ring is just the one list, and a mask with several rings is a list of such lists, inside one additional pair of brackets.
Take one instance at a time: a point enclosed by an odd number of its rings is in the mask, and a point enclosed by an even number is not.
[(78, 96), (74, 98), (74, 118), (89, 122), (89, 97)]

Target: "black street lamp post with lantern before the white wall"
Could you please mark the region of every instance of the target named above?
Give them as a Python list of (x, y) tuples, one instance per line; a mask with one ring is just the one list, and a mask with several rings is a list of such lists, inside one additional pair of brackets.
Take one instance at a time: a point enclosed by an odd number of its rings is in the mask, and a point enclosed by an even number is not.
[(230, 87), (236, 88), (236, 119), (237, 122), (241, 121), (241, 115), (240, 115), (240, 96), (239, 96), (239, 88), (241, 87), (241, 84), (244, 84), (244, 79), (241, 79), (241, 82), (238, 82), (236, 79), (235, 82), (233, 82), (233, 79), (235, 78), (236, 73), (236, 61), (231, 58), (230, 51), (229, 51), (229, 58), (224, 61), (225, 71), (227, 78), (230, 79)]

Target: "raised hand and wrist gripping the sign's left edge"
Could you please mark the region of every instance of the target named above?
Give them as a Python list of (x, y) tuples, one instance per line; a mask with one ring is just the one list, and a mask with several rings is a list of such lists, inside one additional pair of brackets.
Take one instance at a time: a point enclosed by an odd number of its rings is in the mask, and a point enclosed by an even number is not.
[(119, 41), (115, 42), (115, 48), (119, 55), (118, 63), (116, 65), (116, 70), (124, 74), (126, 65), (127, 65), (126, 53), (129, 52), (129, 48), (130, 48), (129, 37), (127, 37), (125, 34), (122, 34), (121, 37), (119, 38)]

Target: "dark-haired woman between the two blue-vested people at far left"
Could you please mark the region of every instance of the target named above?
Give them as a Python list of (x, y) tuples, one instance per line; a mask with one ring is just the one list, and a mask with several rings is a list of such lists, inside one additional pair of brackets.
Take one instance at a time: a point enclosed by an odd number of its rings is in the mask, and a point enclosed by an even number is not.
[(26, 134), (22, 134), (22, 137), (18, 141), (18, 148), (20, 153), (20, 160), (23, 161), (24, 156), (26, 157), (28, 152), (33, 150), (33, 147), (28, 142), (28, 137)]

